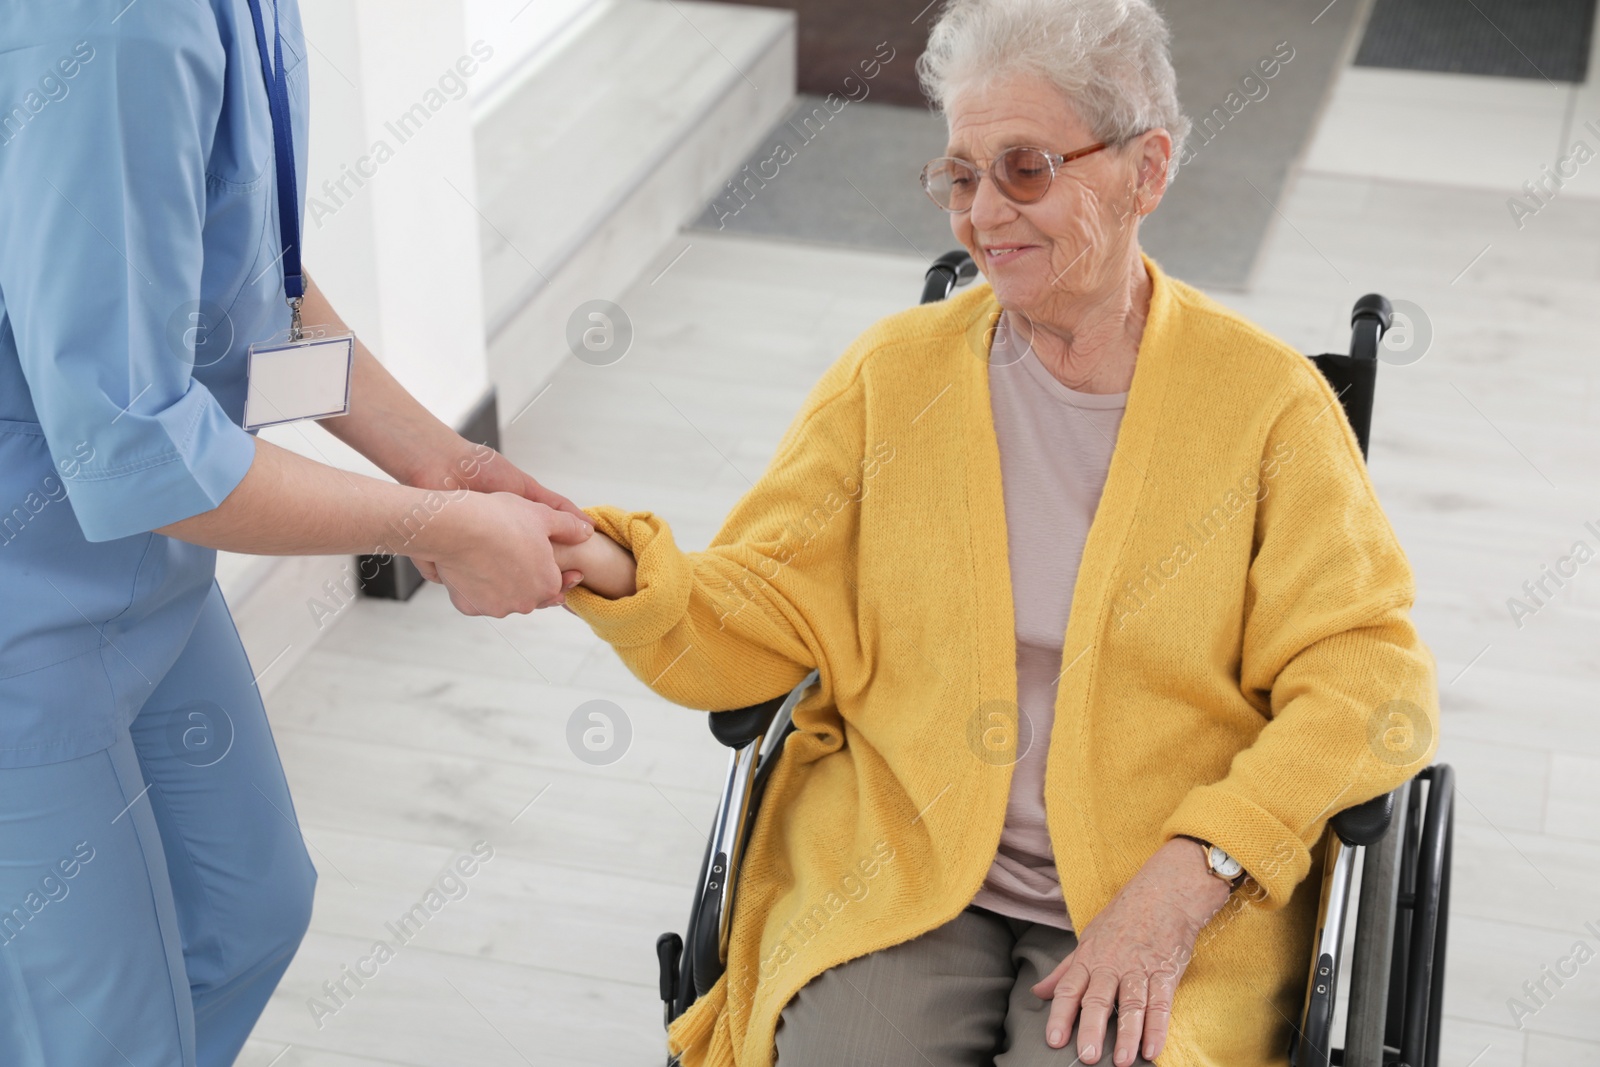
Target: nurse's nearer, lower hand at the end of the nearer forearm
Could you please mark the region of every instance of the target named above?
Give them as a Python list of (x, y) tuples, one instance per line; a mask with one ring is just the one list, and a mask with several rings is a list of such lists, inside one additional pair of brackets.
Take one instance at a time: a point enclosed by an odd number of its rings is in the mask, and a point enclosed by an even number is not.
[(515, 493), (467, 493), (438, 512), (408, 553), (450, 590), (458, 611), (502, 619), (562, 603), (576, 581), (562, 576), (552, 544), (582, 544), (592, 533), (587, 517)]

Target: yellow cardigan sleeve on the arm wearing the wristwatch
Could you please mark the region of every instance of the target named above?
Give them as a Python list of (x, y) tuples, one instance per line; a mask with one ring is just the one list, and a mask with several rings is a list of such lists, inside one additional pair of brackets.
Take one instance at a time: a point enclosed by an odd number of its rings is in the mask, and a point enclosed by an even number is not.
[(1291, 389), (1266, 443), (1245, 592), (1240, 689), (1267, 723), (1162, 830), (1226, 849), (1269, 909), (1306, 877), (1333, 814), (1413, 777), (1438, 741), (1411, 568), (1338, 398), (1306, 370), (1315, 381)]

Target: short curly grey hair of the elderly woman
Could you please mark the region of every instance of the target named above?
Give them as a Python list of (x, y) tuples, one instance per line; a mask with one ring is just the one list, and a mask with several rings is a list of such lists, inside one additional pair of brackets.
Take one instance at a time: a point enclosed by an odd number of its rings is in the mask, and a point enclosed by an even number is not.
[(947, 0), (917, 75), (941, 112), (973, 85), (1042, 77), (1099, 141), (1120, 146), (1165, 128), (1176, 176), (1190, 123), (1178, 106), (1170, 40), (1149, 0)]

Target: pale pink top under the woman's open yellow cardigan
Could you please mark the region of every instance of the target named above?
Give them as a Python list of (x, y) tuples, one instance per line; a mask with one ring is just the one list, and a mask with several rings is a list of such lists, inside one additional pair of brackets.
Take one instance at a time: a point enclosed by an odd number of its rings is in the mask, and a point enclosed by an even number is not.
[(1016, 701), (1026, 749), (1013, 771), (1000, 848), (973, 904), (1072, 929), (1045, 824), (1045, 755), (1072, 587), (1128, 394), (1062, 386), (1027, 344), (1026, 326), (1019, 333), (1010, 323), (1003, 314), (995, 330), (989, 392), (1000, 443), (1016, 609)]

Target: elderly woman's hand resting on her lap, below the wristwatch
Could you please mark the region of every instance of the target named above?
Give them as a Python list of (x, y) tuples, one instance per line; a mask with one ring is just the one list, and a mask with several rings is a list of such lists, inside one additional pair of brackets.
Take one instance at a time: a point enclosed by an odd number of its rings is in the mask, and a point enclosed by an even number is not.
[[(1034, 993), (1053, 1000), (1045, 1040), (1061, 1048), (1078, 1022), (1078, 1057), (1101, 1062), (1117, 1011), (1115, 1067), (1154, 1061), (1166, 1045), (1178, 981), (1200, 929), (1227, 904), (1229, 886), (1206, 869), (1198, 841), (1173, 838), (1082, 931), (1078, 947)], [(1082, 1011), (1082, 1016), (1080, 1016)]]

